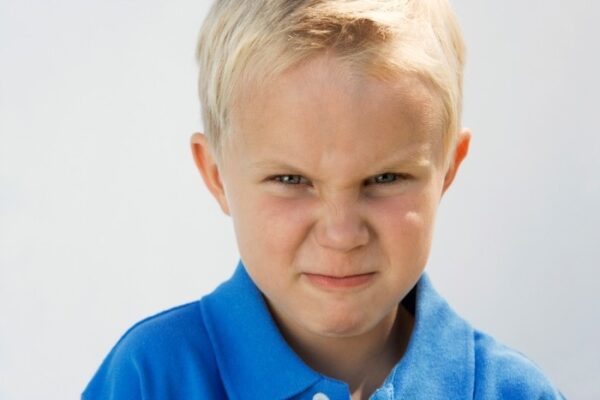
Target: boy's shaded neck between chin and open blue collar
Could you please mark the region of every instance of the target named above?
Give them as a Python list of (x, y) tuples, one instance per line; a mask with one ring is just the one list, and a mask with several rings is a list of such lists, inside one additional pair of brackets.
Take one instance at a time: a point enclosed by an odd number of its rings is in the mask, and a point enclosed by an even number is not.
[(315, 371), (346, 382), (352, 399), (367, 399), (381, 386), (402, 358), (414, 324), (413, 316), (402, 305), (373, 329), (351, 337), (298, 334), (276, 319), (303, 361)]

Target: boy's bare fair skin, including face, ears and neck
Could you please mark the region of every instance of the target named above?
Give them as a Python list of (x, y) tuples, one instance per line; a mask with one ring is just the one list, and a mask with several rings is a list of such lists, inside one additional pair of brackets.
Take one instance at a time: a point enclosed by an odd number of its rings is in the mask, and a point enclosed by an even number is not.
[(195, 134), (194, 159), (290, 346), (368, 398), (406, 350), (413, 317), (399, 304), (425, 268), (470, 133), (446, 158), (432, 89), (332, 55), (248, 90), (222, 158)]

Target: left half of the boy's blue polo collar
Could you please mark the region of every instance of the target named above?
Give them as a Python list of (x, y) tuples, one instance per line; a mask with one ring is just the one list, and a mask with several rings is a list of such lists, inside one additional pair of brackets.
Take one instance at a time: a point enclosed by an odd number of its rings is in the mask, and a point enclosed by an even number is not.
[(321, 379), (285, 342), (241, 262), (202, 304), (223, 381), (238, 398), (290, 398)]

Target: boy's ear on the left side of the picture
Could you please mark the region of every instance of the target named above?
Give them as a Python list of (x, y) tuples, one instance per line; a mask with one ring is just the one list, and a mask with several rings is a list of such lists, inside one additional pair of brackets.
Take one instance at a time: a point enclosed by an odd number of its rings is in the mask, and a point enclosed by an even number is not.
[(206, 135), (194, 133), (191, 139), (191, 147), (194, 162), (202, 175), (204, 184), (217, 200), (223, 212), (229, 215), (229, 204), (225, 196), (225, 187), (221, 180), (219, 165)]

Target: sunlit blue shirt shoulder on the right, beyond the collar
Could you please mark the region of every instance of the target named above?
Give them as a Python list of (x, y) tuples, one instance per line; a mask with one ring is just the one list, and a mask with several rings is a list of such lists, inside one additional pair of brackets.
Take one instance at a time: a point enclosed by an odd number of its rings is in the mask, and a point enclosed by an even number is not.
[(490, 335), (475, 331), (476, 399), (563, 399), (540, 368)]

